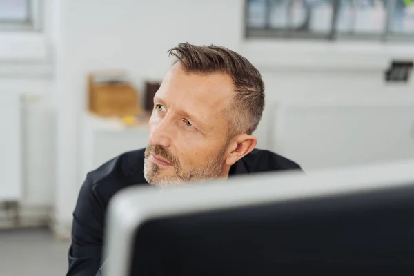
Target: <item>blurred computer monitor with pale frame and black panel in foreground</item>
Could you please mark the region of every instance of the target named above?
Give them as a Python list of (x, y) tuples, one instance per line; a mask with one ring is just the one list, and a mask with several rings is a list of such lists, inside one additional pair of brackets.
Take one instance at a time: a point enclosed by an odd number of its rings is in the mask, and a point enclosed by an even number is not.
[(123, 190), (109, 207), (103, 275), (405, 273), (414, 269), (413, 168)]

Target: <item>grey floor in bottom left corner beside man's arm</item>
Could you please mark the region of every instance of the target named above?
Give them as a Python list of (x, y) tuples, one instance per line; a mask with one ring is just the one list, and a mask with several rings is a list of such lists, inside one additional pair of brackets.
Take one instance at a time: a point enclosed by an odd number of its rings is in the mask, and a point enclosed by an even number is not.
[(65, 275), (68, 246), (46, 228), (0, 230), (0, 275)]

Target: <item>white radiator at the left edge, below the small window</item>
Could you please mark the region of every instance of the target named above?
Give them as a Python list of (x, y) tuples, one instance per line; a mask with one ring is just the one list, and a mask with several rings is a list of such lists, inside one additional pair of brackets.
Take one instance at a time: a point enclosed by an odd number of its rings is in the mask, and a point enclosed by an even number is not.
[(0, 94), (0, 202), (22, 195), (21, 96)]

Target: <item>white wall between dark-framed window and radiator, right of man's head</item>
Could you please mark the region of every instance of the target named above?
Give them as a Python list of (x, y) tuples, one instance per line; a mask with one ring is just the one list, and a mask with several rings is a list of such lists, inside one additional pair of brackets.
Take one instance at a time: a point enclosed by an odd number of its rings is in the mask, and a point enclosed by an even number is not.
[(242, 41), (240, 52), (262, 72), (267, 108), (255, 132), (258, 147), (271, 148), (268, 120), (275, 101), (411, 99), (409, 83), (386, 83), (384, 72), (394, 59), (413, 60), (410, 43), (375, 41)]

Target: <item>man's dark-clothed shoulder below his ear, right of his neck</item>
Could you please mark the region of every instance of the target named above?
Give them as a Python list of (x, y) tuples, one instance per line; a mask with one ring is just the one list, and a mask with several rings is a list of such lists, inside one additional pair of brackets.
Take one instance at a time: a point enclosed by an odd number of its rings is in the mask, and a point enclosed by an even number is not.
[(299, 164), (277, 155), (270, 150), (254, 149), (242, 158), (248, 172), (270, 172), (275, 170), (301, 170)]

